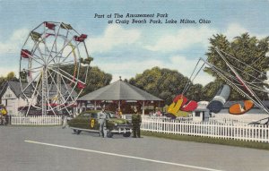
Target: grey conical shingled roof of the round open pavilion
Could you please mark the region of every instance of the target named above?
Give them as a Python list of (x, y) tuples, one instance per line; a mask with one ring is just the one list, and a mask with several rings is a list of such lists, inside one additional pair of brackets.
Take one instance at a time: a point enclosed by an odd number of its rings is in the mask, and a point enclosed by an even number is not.
[(141, 90), (126, 81), (115, 81), (99, 90), (78, 98), (78, 100), (151, 100), (162, 101), (152, 94)]

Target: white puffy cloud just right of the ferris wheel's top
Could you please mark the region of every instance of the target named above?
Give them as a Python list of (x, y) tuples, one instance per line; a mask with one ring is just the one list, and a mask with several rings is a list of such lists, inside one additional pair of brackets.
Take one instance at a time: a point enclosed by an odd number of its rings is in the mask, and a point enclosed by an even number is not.
[(87, 45), (91, 52), (104, 52), (113, 47), (134, 44), (141, 36), (139, 30), (125, 30), (120, 25), (111, 24), (99, 38), (91, 38)]

